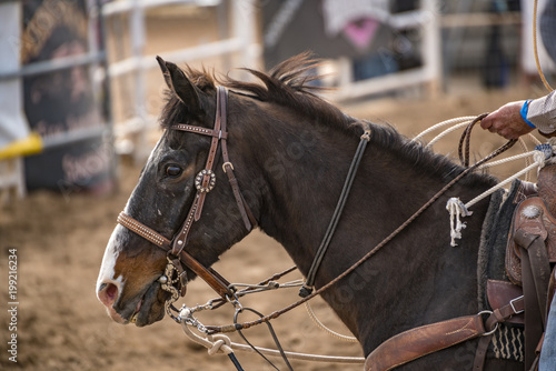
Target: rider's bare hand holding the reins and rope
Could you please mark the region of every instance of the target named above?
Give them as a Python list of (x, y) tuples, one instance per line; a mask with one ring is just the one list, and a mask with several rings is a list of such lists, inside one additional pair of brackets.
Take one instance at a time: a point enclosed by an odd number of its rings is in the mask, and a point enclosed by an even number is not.
[(484, 118), (480, 127), (506, 139), (517, 139), (533, 131), (534, 128), (529, 127), (520, 114), (524, 103), (525, 100), (504, 104)]

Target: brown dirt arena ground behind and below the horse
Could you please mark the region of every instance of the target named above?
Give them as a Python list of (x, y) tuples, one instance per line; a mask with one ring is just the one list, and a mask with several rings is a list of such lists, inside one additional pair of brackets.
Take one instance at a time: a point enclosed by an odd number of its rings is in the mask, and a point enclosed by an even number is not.
[[(161, 39), (160, 42), (163, 42)], [(159, 79), (157, 77), (156, 79)], [(161, 78), (158, 84), (161, 83)], [(505, 102), (537, 97), (536, 91), (509, 90), (485, 92), (461, 87), (451, 94), (435, 98), (401, 98), (361, 101), (345, 110), (375, 122), (389, 122), (414, 137), (423, 129), (443, 120), (476, 116), (492, 111)], [(155, 100), (157, 101), (157, 100)], [(152, 103), (156, 106), (156, 103)], [(430, 139), (430, 138), (428, 138)], [(457, 134), (435, 147), (443, 153), (457, 151)], [(474, 153), (485, 156), (504, 140), (488, 132), (478, 132), (473, 142)], [(522, 163), (517, 164), (520, 166)], [(496, 170), (509, 173), (513, 167)], [(119, 191), (102, 197), (51, 192), (34, 192), (0, 208), (0, 369), (2, 370), (232, 370), (224, 355), (210, 357), (207, 350), (192, 343), (178, 324), (166, 318), (147, 328), (119, 325), (112, 322), (96, 298), (95, 283), (102, 253), (116, 218), (122, 210), (140, 166), (120, 166)], [(448, 215), (446, 215), (448, 218)], [(322, 221), (327, 223), (327, 220)], [(7, 311), (10, 249), (18, 259), (18, 363), (8, 360), (7, 352), (11, 317)], [(232, 282), (257, 282), (291, 265), (280, 245), (254, 231), (227, 252), (216, 269)], [(292, 279), (299, 278), (295, 272)], [(190, 283), (185, 302), (205, 303), (214, 298), (201, 281)], [(248, 305), (269, 313), (297, 299), (297, 290), (266, 293), (246, 301)], [(319, 318), (332, 329), (347, 333), (335, 315), (320, 301), (314, 304)], [(229, 311), (203, 315), (207, 324), (231, 322)], [(373, 315), (369, 313), (369, 315)], [(246, 317), (248, 319), (248, 317)], [(359, 345), (330, 338), (317, 329), (305, 310), (298, 309), (275, 322), (275, 329), (286, 350), (327, 355), (361, 357)], [(269, 333), (262, 329), (246, 332), (261, 347), (271, 347)], [(238, 341), (235, 337), (234, 340)], [(246, 370), (271, 370), (258, 355), (238, 353)], [(277, 360), (281, 369), (282, 363)], [(361, 365), (321, 364), (292, 361), (296, 370), (361, 370)]]

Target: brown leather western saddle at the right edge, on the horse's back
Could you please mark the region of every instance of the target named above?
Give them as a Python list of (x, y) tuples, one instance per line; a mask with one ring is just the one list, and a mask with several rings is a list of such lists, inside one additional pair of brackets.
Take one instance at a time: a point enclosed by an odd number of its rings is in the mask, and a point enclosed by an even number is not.
[[(525, 369), (537, 367), (538, 354), (546, 329), (548, 307), (554, 292), (554, 271), (556, 262), (556, 164), (540, 169), (537, 180), (537, 193), (523, 199), (513, 217), (506, 245), (506, 274), (514, 283), (502, 290), (488, 290), (489, 303), (496, 297), (519, 294), (510, 303), (524, 298), (525, 311), (516, 315), (516, 323), (525, 324)], [(509, 282), (508, 282), (509, 283)], [(494, 288), (493, 288), (494, 289)], [(517, 289), (517, 290), (516, 290)], [(498, 291), (495, 295), (493, 292)], [(504, 298), (507, 300), (508, 298)]]

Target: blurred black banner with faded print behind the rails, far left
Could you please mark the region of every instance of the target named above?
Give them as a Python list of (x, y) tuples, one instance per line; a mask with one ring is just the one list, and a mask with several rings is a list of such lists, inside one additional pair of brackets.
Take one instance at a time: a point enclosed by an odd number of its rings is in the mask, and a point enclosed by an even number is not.
[[(22, 64), (56, 61), (89, 53), (89, 19), (85, 0), (23, 1)], [(91, 66), (23, 78), (24, 111), (31, 130), (44, 142), (62, 142), (26, 159), (29, 190), (47, 188), (64, 193), (105, 190), (113, 181), (112, 146), (102, 139), (106, 118)], [(97, 133), (72, 136), (76, 132)]]

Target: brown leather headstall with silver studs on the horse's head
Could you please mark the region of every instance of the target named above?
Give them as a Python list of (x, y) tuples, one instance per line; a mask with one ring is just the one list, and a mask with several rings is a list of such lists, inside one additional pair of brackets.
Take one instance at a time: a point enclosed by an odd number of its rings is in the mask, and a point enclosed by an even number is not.
[[(257, 225), (257, 221), (254, 218), (239, 190), (238, 181), (236, 179), (236, 176), (234, 174), (234, 166), (231, 164), (228, 156), (228, 132), (226, 131), (227, 103), (228, 90), (224, 87), (218, 87), (215, 127), (212, 130), (185, 123), (177, 123), (170, 127), (170, 129), (173, 130), (187, 131), (212, 138), (205, 169), (201, 170), (195, 178), (197, 194), (195, 195), (193, 203), (189, 209), (189, 213), (183, 224), (179, 229), (179, 232), (173, 237), (173, 239), (171, 241), (168, 240), (166, 237), (161, 235), (160, 233), (156, 232), (155, 230), (150, 229), (149, 227), (142, 224), (141, 222), (127, 215), (123, 212), (121, 212), (118, 217), (118, 223), (139, 234), (147, 241), (156, 244), (168, 253), (168, 265), (160, 282), (162, 284), (162, 289), (172, 293), (173, 301), (179, 298), (178, 290), (180, 295), (183, 297), (186, 294), (187, 272), (183, 270), (182, 264), (193, 271), (201, 279), (203, 279), (216, 292), (218, 292), (220, 297), (228, 300), (234, 297), (234, 291), (230, 288), (229, 282), (225, 278), (222, 278), (211, 268), (203, 267), (193, 257), (191, 257), (187, 251), (183, 250), (188, 241), (191, 225), (201, 217), (205, 198), (207, 197), (207, 193), (210, 192), (215, 187), (216, 176), (212, 169), (215, 166), (215, 159), (218, 152), (219, 143), (221, 143), (224, 160), (222, 170), (228, 176), (228, 181), (231, 186), (231, 190), (234, 192), (236, 203), (239, 208), (241, 219), (244, 220), (245, 228), (250, 231), (254, 225)], [(175, 284), (177, 285), (177, 288), (173, 287)]]

